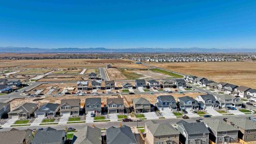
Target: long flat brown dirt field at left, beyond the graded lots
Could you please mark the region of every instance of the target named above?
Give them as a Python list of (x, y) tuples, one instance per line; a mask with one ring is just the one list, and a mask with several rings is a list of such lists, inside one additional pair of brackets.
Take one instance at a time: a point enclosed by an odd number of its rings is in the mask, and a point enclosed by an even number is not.
[(0, 68), (98, 68), (107, 67), (111, 64), (112, 67), (117, 68), (148, 68), (147, 66), (136, 64), (129, 60), (103, 60), (103, 59), (69, 59), (69, 60), (0, 60)]

